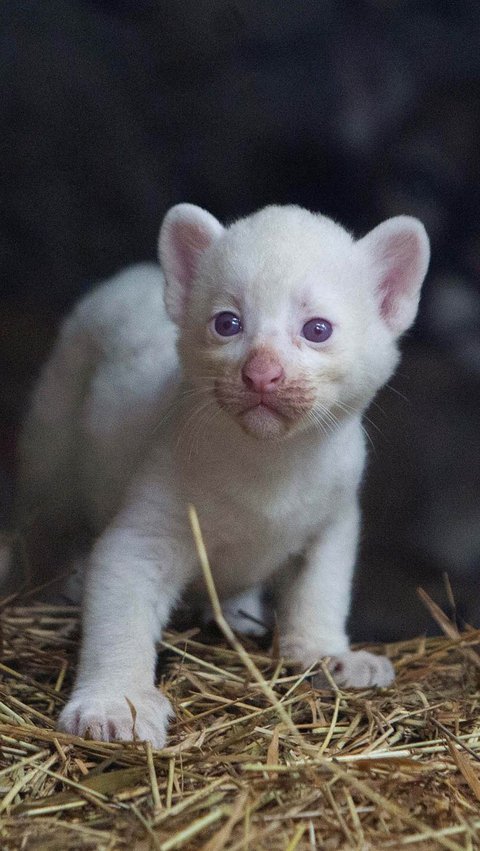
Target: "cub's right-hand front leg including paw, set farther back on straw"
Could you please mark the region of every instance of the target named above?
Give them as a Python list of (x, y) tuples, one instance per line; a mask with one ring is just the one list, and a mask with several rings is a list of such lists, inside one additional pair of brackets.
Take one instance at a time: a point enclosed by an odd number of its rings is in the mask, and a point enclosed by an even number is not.
[(305, 667), (328, 656), (340, 686), (387, 686), (395, 677), (389, 659), (350, 650), (346, 633), (358, 529), (357, 505), (339, 507), (303, 565), (288, 571), (277, 599), (280, 649)]

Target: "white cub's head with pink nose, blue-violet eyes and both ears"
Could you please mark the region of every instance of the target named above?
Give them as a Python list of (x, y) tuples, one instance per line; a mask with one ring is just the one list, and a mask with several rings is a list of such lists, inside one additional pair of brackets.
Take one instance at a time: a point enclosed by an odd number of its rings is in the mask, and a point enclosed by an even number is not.
[(199, 410), (257, 438), (327, 433), (362, 411), (396, 366), (428, 260), (425, 229), (407, 216), (355, 241), (300, 207), (228, 228), (173, 207), (160, 231), (165, 302)]

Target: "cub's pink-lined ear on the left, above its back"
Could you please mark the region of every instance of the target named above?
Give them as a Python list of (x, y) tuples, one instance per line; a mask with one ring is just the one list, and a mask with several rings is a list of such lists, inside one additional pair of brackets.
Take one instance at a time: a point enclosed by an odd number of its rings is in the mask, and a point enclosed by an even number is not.
[(202, 253), (223, 231), (214, 216), (193, 204), (177, 204), (166, 214), (158, 241), (165, 275), (165, 304), (174, 322), (181, 323)]

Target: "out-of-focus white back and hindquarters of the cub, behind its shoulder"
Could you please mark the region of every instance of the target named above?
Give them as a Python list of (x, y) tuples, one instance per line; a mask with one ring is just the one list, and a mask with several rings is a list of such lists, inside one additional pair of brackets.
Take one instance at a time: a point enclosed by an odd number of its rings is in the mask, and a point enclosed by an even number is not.
[(115, 510), (175, 382), (175, 328), (158, 266), (130, 267), (64, 321), (21, 440), (20, 511), (80, 513), (100, 529)]

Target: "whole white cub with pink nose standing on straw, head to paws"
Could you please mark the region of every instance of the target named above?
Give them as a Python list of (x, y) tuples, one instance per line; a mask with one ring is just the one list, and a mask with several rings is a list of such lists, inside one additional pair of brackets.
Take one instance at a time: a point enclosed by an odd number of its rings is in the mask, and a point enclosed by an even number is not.
[(355, 241), (299, 207), (224, 228), (180, 204), (160, 233), (165, 281), (155, 266), (128, 269), (66, 320), (26, 425), (21, 484), (44, 536), (80, 518), (98, 535), (61, 729), (163, 746), (171, 710), (154, 685), (155, 643), (184, 593), (204, 595), (188, 503), (227, 612), (269, 585), (284, 656), (330, 657), (343, 686), (392, 681), (390, 662), (352, 652), (345, 631), (361, 418), (397, 364), (428, 258), (409, 217)]

